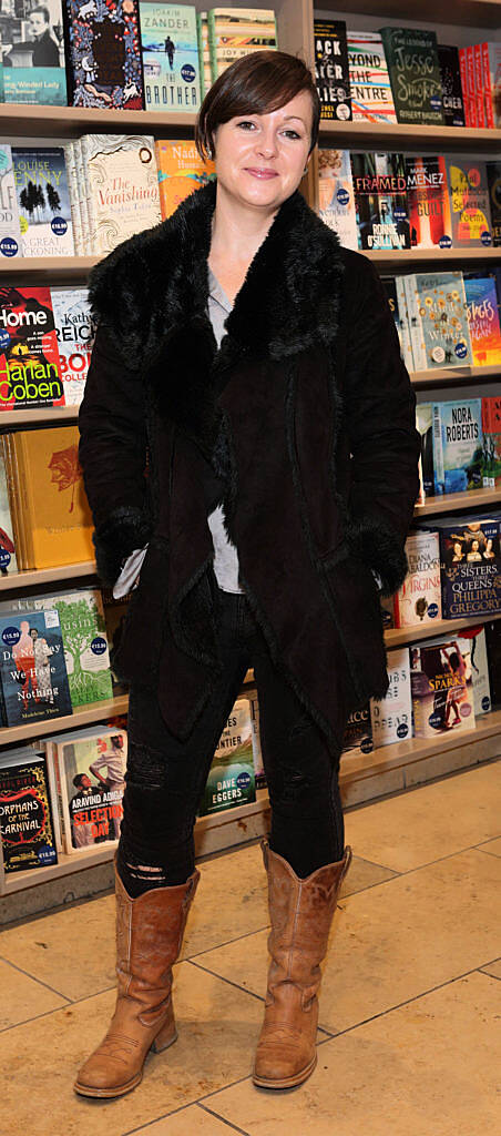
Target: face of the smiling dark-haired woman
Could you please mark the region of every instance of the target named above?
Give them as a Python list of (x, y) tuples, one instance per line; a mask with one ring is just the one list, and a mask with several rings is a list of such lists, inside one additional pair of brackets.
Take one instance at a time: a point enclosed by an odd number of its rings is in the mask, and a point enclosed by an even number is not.
[(278, 110), (223, 123), (215, 137), (218, 186), (241, 204), (278, 209), (303, 175), (311, 123), (307, 91)]

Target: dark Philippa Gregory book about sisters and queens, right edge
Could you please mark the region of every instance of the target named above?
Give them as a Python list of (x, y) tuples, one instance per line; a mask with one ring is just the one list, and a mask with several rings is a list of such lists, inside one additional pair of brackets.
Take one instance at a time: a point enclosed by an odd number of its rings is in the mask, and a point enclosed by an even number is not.
[(443, 619), (487, 617), (501, 610), (500, 520), (458, 517), (440, 532)]

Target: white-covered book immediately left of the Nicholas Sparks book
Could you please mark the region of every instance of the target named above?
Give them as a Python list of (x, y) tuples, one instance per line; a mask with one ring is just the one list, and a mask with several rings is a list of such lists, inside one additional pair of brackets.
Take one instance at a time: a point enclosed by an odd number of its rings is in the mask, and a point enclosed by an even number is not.
[(387, 693), (384, 699), (370, 699), (370, 721), (376, 749), (412, 737), (409, 648), (389, 651), (386, 662), (390, 680)]

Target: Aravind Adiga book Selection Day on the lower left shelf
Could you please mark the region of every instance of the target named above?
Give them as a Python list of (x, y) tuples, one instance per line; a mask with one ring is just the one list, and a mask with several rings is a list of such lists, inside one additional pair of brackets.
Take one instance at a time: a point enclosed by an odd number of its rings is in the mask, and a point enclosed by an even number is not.
[(115, 726), (52, 738), (56, 782), (68, 855), (120, 835), (127, 734)]

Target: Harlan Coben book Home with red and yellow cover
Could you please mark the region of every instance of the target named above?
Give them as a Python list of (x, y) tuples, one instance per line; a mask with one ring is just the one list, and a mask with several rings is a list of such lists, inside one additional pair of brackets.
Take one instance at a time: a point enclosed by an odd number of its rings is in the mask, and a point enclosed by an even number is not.
[(65, 389), (50, 289), (3, 287), (0, 294), (0, 414), (62, 407)]

